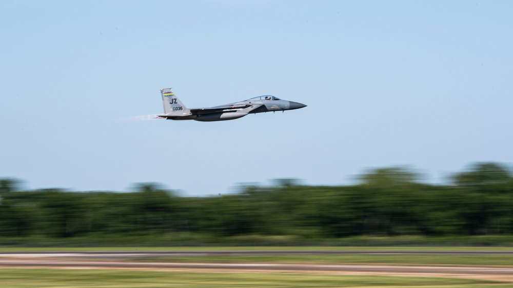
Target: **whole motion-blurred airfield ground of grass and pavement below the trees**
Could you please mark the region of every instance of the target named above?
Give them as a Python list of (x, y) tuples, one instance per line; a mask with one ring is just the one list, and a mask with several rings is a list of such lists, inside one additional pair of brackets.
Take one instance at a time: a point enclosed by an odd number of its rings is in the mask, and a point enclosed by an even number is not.
[(3, 287), (461, 288), (511, 287), (513, 283), (513, 252), (507, 251), (376, 251), (369, 254), (338, 251), (338, 248), (322, 251), (187, 249), (189, 251), (0, 252), (0, 268), (3, 268), (0, 280), (3, 280)]

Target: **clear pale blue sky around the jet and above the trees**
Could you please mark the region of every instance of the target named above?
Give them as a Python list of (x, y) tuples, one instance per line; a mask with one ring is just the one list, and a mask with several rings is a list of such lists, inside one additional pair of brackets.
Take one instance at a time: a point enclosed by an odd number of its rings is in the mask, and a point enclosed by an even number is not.
[[(0, 177), (182, 195), (513, 162), (510, 1), (3, 1)], [(222, 122), (127, 121), (271, 94)]]

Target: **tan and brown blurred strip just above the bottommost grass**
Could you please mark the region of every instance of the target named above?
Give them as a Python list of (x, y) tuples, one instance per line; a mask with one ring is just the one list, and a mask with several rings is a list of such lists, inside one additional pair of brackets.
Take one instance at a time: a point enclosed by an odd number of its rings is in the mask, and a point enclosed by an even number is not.
[(0, 268), (124, 269), (211, 273), (309, 273), (444, 277), (513, 283), (513, 268), (463, 266), (339, 265), (304, 263), (173, 263), (90, 260), (55, 257), (0, 257)]

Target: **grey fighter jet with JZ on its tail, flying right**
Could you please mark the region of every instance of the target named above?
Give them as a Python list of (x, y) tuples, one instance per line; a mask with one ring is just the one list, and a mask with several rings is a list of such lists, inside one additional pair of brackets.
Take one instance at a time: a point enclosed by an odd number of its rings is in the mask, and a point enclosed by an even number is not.
[(182, 101), (171, 92), (171, 88), (161, 89), (161, 93), (164, 114), (155, 117), (160, 119), (224, 121), (238, 119), (252, 113), (285, 111), (306, 107), (306, 105), (298, 102), (281, 100), (272, 95), (264, 95), (232, 104), (210, 108), (187, 109), (182, 104)]

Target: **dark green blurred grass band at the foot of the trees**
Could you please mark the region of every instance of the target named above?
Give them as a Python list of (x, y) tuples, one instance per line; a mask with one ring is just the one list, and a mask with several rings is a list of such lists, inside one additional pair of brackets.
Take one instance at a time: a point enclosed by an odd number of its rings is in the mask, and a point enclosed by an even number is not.
[[(411, 247), (437, 246), (440, 248), (473, 247), (509, 247), (513, 249), (513, 235), (475, 235), (475, 236), (353, 236), (344, 238), (304, 238), (298, 235), (236, 235), (219, 236), (203, 233), (172, 232), (149, 234), (88, 234), (66, 238), (42, 236), (5, 237), (0, 236), (0, 246), (10, 247), (163, 247), (197, 246), (200, 249), (212, 246), (337, 246), (351, 249), (352, 246), (384, 248), (386, 246)], [(329, 249), (329, 248), (328, 248)]]

